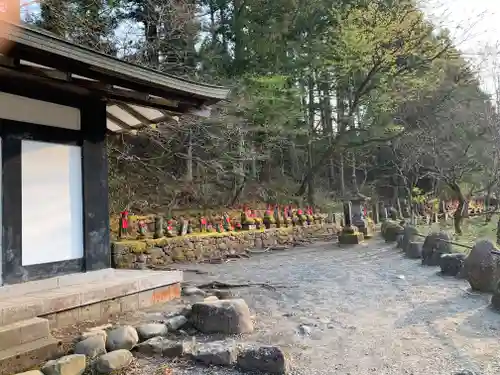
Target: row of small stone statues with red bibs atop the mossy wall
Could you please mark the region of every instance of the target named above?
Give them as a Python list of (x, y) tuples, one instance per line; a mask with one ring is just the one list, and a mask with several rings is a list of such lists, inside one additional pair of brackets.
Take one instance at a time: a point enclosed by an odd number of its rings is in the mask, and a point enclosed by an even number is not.
[[(292, 206), (268, 207), (260, 211), (244, 208), (239, 217), (231, 218), (225, 212), (220, 216), (196, 218), (165, 218), (163, 215), (140, 217), (128, 211), (121, 212), (119, 238), (162, 238), (184, 236), (191, 233), (229, 232), (239, 230), (269, 229), (292, 226), (308, 226), (323, 223), (328, 215), (310, 207), (305, 209)], [(334, 219), (333, 219), (334, 220)]]

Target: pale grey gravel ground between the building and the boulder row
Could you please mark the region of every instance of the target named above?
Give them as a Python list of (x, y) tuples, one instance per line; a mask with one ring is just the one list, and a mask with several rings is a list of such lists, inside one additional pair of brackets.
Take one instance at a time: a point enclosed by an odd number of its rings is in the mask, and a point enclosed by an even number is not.
[[(291, 356), (292, 374), (500, 373), (500, 314), (489, 309), (490, 296), (405, 259), (380, 240), (353, 248), (320, 244), (195, 268), (209, 275), (186, 272), (193, 285), (217, 280), (287, 286), (241, 288), (235, 294), (247, 301), (256, 322), (255, 332), (239, 341), (280, 345)], [(138, 367), (164, 373), (157, 362)], [(171, 367), (173, 374), (239, 374), (182, 363)]]

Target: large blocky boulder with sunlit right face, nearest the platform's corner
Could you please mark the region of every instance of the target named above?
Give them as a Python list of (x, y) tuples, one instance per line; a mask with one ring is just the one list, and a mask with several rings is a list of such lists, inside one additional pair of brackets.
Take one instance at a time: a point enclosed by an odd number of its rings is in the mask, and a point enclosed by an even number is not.
[(203, 333), (253, 332), (250, 310), (243, 299), (195, 303), (190, 321), (197, 330)]

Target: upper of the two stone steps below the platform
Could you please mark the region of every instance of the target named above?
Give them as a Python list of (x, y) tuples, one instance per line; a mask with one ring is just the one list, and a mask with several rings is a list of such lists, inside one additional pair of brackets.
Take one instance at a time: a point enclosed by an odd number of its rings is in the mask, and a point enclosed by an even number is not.
[(32, 318), (0, 326), (0, 351), (50, 337), (49, 321)]

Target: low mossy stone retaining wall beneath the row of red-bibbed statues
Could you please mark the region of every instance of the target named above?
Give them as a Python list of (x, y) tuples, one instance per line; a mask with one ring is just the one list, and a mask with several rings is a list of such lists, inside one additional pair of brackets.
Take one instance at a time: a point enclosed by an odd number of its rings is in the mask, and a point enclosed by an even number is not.
[(246, 249), (287, 245), (324, 234), (338, 233), (335, 224), (313, 224), (307, 227), (194, 234), (182, 237), (117, 241), (113, 247), (116, 268), (142, 269), (150, 265), (195, 262), (243, 253)]

